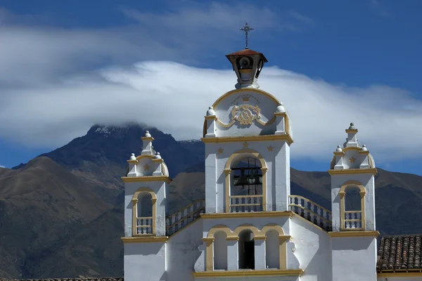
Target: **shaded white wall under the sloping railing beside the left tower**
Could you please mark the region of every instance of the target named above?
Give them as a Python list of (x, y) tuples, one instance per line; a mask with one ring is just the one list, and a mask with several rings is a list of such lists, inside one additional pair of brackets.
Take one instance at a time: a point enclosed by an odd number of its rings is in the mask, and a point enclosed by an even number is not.
[(202, 219), (199, 219), (170, 236), (167, 241), (167, 281), (193, 280), (193, 267), (201, 254), (198, 247), (203, 244), (202, 228)]

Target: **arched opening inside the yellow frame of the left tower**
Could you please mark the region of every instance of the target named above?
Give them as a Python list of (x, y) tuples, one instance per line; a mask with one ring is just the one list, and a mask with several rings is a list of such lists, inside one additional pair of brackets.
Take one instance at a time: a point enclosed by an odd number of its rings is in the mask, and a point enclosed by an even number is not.
[(136, 235), (153, 234), (153, 197), (150, 192), (139, 192), (136, 203)]

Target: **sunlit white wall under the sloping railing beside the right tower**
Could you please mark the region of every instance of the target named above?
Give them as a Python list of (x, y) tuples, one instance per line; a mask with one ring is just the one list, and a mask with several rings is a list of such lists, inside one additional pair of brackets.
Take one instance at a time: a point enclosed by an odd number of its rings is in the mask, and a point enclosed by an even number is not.
[(342, 280), (331, 277), (331, 237), (328, 233), (293, 216), (290, 220), (290, 235), (296, 248), (294, 254), (300, 268), (305, 270), (300, 277), (301, 281)]

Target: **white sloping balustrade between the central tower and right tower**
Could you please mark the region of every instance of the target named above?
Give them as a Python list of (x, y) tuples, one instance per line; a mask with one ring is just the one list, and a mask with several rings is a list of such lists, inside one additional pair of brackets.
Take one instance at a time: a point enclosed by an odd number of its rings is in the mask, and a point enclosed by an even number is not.
[(320, 226), (324, 230), (331, 231), (331, 211), (319, 204), (299, 195), (289, 195), (290, 211), (306, 218), (308, 221)]

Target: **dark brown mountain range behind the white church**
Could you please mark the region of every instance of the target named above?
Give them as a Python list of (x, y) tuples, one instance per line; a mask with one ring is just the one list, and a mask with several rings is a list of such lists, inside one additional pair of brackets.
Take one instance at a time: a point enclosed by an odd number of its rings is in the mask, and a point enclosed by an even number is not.
[[(205, 197), (202, 142), (176, 141), (141, 124), (95, 125), (27, 164), (0, 168), (0, 277), (122, 276), (120, 177), (129, 155), (139, 154), (147, 129), (174, 177), (170, 213)], [(422, 233), (422, 177), (378, 172), (378, 230), (382, 235)], [(291, 169), (290, 174), (292, 194), (329, 209), (328, 173)]]

